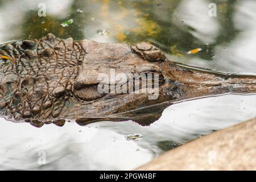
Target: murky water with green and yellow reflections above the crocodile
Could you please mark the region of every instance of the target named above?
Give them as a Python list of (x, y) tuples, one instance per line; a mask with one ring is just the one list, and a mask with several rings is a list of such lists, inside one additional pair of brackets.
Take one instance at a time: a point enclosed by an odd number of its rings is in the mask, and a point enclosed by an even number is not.
[[(46, 17), (39, 17), (39, 3)], [(217, 17), (209, 16), (216, 3)], [(0, 42), (41, 38), (48, 32), (98, 42), (148, 41), (173, 61), (224, 72), (255, 73), (254, 0), (26, 0), (0, 1)], [(82, 10), (82, 11), (78, 11)], [(60, 24), (68, 19), (69, 27)], [(98, 34), (98, 32), (107, 32)], [(186, 53), (194, 48), (203, 51)]]

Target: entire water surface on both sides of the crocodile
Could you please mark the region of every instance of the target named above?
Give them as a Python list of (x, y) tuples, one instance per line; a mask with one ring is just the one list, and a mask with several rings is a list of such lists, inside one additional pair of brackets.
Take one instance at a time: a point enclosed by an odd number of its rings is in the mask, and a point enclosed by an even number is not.
[[(217, 17), (208, 15), (217, 4)], [(46, 17), (39, 17), (39, 3)], [(254, 0), (0, 0), (0, 42), (48, 32), (98, 42), (148, 41), (172, 61), (214, 71), (256, 73)], [(73, 19), (68, 27), (61, 23)], [(191, 49), (202, 51), (188, 55)], [(221, 96), (172, 105), (150, 126), (100, 122), (40, 129), (0, 122), (0, 169), (131, 169), (164, 150), (255, 117), (255, 96)], [(3, 119), (2, 119), (3, 120)], [(141, 134), (137, 141), (129, 134)], [(46, 152), (46, 165), (38, 152)]]

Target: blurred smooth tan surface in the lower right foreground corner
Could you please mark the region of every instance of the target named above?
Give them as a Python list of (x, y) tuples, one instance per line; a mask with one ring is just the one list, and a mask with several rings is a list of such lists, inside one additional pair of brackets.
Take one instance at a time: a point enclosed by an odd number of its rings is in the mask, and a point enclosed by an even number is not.
[(256, 170), (256, 118), (188, 142), (137, 170)]

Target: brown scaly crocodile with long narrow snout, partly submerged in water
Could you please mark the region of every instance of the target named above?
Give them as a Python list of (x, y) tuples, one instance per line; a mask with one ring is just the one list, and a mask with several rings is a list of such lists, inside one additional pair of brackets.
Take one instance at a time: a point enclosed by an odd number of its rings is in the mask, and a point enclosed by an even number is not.
[[(223, 93), (256, 93), (255, 76), (222, 75), (188, 69), (168, 59), (148, 43), (74, 42), (48, 34), (0, 47), (0, 115), (14, 121), (80, 125), (132, 119), (154, 122), (164, 107), (188, 98)], [(97, 76), (157, 73), (158, 98), (146, 93), (99, 93)], [(114, 83), (116, 84), (116, 83)], [(142, 87), (139, 87), (141, 90)], [(137, 90), (138, 91), (138, 90)], [(150, 110), (150, 111), (148, 111)]]

